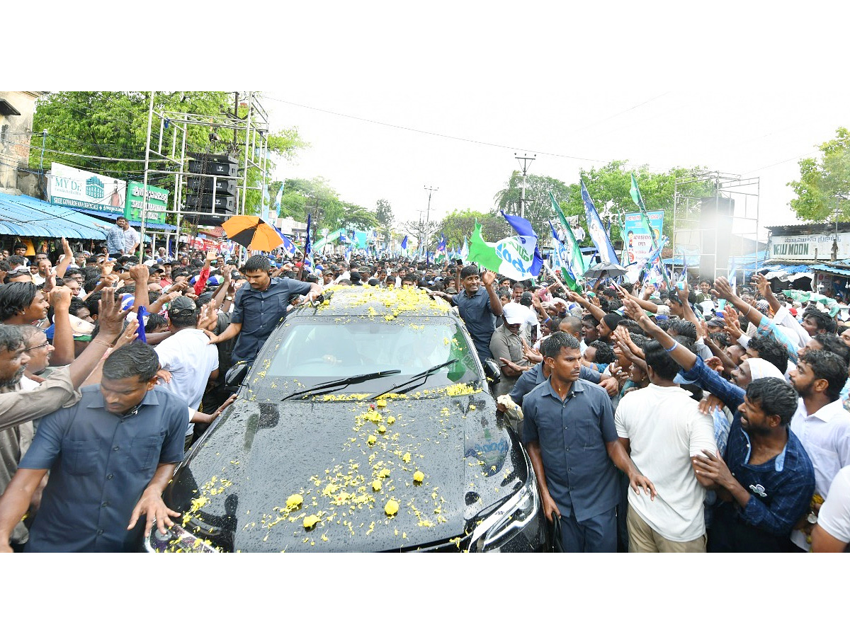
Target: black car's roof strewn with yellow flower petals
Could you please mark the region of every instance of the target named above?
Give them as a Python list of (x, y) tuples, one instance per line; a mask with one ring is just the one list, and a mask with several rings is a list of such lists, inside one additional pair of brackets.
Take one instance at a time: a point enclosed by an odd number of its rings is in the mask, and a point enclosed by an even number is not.
[[(320, 304), (318, 313), (326, 316), (369, 316), (389, 321), (399, 315), (452, 315), (449, 303), (433, 299), (425, 290), (416, 288), (329, 285), (324, 296), (326, 300)], [(310, 308), (299, 307), (292, 315), (296, 313), (310, 313)]]

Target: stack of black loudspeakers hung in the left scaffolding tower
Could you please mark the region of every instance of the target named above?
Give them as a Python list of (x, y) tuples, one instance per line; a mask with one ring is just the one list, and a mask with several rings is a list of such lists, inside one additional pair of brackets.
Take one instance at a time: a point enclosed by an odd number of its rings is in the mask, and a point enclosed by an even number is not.
[(184, 212), (190, 223), (220, 226), (236, 211), (239, 162), (229, 155), (190, 155)]

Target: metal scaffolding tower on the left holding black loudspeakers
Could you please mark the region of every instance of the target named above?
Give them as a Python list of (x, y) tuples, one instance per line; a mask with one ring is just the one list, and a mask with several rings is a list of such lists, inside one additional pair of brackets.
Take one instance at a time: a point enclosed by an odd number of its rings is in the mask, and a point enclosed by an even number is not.
[[(150, 112), (148, 116), (148, 134), (144, 151), (144, 189), (150, 178), (173, 178), (172, 207), (167, 212), (177, 218), (177, 234), (175, 236), (175, 251), (179, 251), (181, 221), (187, 215), (197, 215), (198, 223), (193, 224), (190, 235), (197, 236), (197, 227), (204, 225), (203, 217), (226, 216), (234, 214), (251, 214), (246, 211), (246, 194), (248, 190), (265, 192), (266, 173), (269, 161), (269, 116), (260, 104), (258, 93), (248, 91), (235, 93), (233, 112), (222, 111), (215, 115), (184, 113), (176, 110), (154, 110), (154, 93), (150, 94)], [(238, 116), (240, 106), (247, 107), (245, 116)], [(200, 148), (197, 142), (190, 139), (190, 131), (207, 128), (207, 147)], [(153, 131), (159, 131), (156, 135)], [(232, 139), (229, 139), (232, 132)], [(221, 133), (221, 134), (219, 134)], [(225, 139), (228, 137), (228, 139)], [(188, 189), (188, 179), (193, 177), (209, 178), (212, 180), (212, 193), (215, 193), (217, 180), (220, 176), (207, 173), (190, 172), (189, 161), (201, 155), (229, 155), (239, 164), (235, 177), (236, 195), (235, 211), (218, 212), (215, 210), (215, 200), (212, 198), (212, 212), (202, 212), (196, 207), (185, 206), (185, 190)], [(151, 167), (151, 158), (157, 160), (157, 167)], [(250, 168), (257, 168), (259, 181), (252, 185), (248, 179)], [(148, 220), (148, 198), (144, 197), (142, 207), (141, 248), (144, 254), (144, 225)]]

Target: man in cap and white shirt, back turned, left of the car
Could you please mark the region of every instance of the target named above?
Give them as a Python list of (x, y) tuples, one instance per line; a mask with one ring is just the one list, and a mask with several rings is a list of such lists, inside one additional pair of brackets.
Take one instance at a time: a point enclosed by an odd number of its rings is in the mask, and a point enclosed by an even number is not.
[[(218, 349), (203, 330), (196, 329), (198, 310), (187, 296), (178, 296), (168, 306), (168, 330), (173, 334), (156, 346), (161, 369), (167, 372), (165, 388), (186, 401), (190, 413), (197, 411), (207, 381), (218, 378)], [(187, 424), (186, 436), (194, 425)]]

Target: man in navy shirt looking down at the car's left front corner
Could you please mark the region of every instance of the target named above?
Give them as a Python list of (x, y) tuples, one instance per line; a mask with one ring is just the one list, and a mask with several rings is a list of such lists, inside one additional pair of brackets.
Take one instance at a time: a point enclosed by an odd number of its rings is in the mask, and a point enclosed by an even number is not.
[[(48, 485), (26, 551), (116, 552), (141, 548), (157, 518), (170, 526), (161, 493), (183, 459), (186, 403), (156, 387), (156, 352), (135, 341), (113, 352), (99, 386), (42, 418), (0, 499), (0, 535), (20, 519), (46, 471)], [(144, 525), (136, 522), (146, 517)]]

